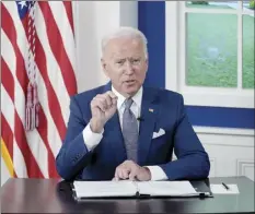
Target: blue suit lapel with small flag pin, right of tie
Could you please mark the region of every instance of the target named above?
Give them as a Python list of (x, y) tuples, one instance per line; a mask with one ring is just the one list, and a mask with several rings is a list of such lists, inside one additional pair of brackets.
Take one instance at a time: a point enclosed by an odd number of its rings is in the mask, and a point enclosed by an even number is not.
[(151, 139), (155, 127), (159, 105), (157, 105), (155, 91), (143, 87), (141, 103), (140, 131), (138, 138), (138, 164), (143, 165), (150, 150)]

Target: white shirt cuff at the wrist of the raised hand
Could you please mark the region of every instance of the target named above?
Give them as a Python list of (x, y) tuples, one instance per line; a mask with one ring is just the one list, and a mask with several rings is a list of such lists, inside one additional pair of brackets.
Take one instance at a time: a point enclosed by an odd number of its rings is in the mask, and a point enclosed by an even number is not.
[(89, 152), (93, 150), (102, 140), (104, 133), (104, 129), (101, 133), (95, 133), (91, 130), (90, 122), (86, 124), (85, 129), (83, 130), (83, 140), (86, 145)]

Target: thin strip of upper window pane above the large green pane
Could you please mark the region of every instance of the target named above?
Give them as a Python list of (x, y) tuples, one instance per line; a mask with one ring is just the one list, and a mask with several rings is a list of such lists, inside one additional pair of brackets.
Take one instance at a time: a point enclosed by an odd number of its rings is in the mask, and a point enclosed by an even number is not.
[(237, 9), (237, 1), (187, 1), (188, 8), (205, 8), (205, 9)]

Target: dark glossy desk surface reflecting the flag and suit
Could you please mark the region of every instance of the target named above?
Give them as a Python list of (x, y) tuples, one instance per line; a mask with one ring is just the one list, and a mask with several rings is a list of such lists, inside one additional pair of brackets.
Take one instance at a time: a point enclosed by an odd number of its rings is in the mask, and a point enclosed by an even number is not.
[(56, 179), (9, 179), (1, 189), (2, 213), (255, 213), (254, 182), (246, 177), (210, 178), (236, 183), (240, 194), (213, 198), (86, 200), (76, 202), (70, 186)]

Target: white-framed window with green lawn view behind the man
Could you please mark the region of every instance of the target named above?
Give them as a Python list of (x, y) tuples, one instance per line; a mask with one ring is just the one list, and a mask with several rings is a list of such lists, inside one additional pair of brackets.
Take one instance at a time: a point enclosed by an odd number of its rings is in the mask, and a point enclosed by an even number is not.
[(167, 1), (165, 14), (166, 88), (181, 92), (186, 105), (253, 108), (250, 1)]

